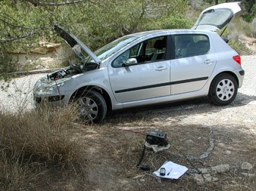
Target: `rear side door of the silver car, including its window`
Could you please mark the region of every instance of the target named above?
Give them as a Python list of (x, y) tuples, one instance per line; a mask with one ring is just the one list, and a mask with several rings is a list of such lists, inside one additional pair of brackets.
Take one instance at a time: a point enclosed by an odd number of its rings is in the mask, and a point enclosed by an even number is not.
[(170, 60), (171, 94), (198, 91), (208, 81), (216, 65), (216, 54), (207, 33), (173, 35)]

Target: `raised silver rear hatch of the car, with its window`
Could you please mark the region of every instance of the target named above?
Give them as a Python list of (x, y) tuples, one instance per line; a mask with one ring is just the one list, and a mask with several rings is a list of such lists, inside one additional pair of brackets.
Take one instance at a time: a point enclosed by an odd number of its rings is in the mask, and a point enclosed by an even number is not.
[(219, 31), (223, 29), (232, 20), (235, 14), (241, 11), (241, 2), (229, 2), (214, 5), (204, 9), (192, 29), (206, 29)]

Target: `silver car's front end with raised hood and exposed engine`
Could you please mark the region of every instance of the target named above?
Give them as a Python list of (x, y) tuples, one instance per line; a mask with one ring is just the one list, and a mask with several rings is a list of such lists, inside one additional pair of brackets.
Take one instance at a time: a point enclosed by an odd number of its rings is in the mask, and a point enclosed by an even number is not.
[(36, 107), (45, 103), (51, 103), (51, 105), (55, 106), (66, 105), (73, 93), (73, 88), (75, 88), (72, 82), (73, 77), (98, 69), (101, 62), (76, 36), (57, 24), (54, 25), (54, 29), (67, 45), (72, 48), (76, 56), (80, 58), (80, 61), (77, 64), (58, 69), (36, 82), (33, 88), (33, 99)]

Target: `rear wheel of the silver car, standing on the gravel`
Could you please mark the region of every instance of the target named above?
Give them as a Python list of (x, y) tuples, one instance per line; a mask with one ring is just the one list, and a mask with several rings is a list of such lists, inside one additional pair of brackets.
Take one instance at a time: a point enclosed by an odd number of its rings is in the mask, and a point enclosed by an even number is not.
[(232, 75), (220, 74), (211, 83), (208, 97), (212, 103), (225, 106), (235, 100), (237, 89), (236, 79)]

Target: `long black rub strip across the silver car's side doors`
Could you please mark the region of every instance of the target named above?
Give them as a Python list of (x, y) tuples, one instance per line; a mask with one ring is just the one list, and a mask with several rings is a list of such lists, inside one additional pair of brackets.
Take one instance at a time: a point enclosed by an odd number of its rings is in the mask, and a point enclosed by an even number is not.
[(158, 88), (158, 87), (166, 86), (166, 85), (178, 85), (178, 84), (189, 83), (189, 82), (197, 82), (197, 81), (206, 80), (206, 79), (208, 79), (208, 77), (201, 77), (201, 78), (197, 78), (197, 79), (185, 79), (185, 80), (180, 80), (180, 81), (176, 81), (176, 82), (165, 82), (165, 83), (161, 83), (161, 84), (157, 84), (157, 85), (145, 85), (145, 86), (140, 86), (140, 87), (136, 87), (136, 88), (127, 88), (127, 89), (123, 89), (123, 90), (117, 90), (117, 91), (114, 91), (114, 93), (123, 93), (126, 91), (136, 91), (136, 90), (143, 90), (143, 89), (148, 89), (148, 88)]

